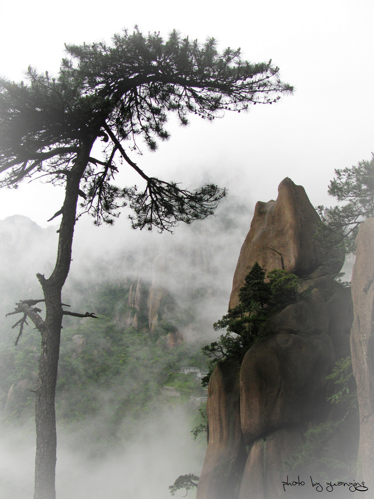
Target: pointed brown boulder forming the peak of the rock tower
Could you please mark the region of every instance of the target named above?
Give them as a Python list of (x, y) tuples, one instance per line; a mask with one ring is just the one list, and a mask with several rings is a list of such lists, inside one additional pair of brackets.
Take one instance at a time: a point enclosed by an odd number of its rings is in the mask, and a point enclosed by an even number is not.
[[(239, 290), (244, 278), (257, 261), (267, 273), (275, 268), (299, 276), (311, 274), (332, 258), (344, 260), (337, 250), (325, 254), (314, 240), (320, 218), (302, 186), (286, 177), (278, 187), (276, 201), (256, 204), (250, 230), (241, 247), (232, 282), (229, 308), (239, 303)], [(343, 266), (334, 263), (339, 272)]]

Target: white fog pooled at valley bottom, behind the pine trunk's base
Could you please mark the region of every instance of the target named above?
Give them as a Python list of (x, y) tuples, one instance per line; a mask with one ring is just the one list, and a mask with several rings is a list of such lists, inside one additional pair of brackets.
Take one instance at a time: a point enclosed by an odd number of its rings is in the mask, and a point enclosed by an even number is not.
[[(85, 425), (92, 425), (92, 421)], [(193, 442), (181, 408), (166, 408), (150, 418), (137, 436), (102, 452), (84, 429), (57, 427), (56, 497), (58, 499), (165, 499), (169, 486), (187, 473), (199, 475), (204, 446)], [(91, 436), (92, 437), (92, 436)], [(101, 453), (100, 458), (97, 456)], [(12, 428), (0, 439), (0, 497), (32, 497), (35, 432)], [(178, 495), (176, 497), (179, 497)], [(188, 495), (188, 497), (193, 497)]]

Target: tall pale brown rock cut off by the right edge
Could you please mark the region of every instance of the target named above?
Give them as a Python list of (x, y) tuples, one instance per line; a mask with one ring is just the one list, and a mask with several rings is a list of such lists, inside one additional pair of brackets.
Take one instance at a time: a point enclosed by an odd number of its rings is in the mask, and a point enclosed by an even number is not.
[(352, 273), (354, 321), (351, 330), (353, 373), (360, 409), (359, 462), (362, 479), (374, 487), (374, 219), (360, 227)]

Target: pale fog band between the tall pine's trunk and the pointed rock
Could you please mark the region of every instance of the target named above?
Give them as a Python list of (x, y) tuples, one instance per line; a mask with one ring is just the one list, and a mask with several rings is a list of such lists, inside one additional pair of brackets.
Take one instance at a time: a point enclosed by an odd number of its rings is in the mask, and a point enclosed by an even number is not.
[(90, 231), (84, 221), (77, 227), (67, 287), (75, 280), (140, 277), (168, 289), (181, 305), (189, 293), (204, 288), (207, 293), (198, 308), (203, 329), (211, 331), (212, 323), (227, 311), (233, 272), (252, 218), (251, 208), (237, 197), (228, 196), (214, 217), (191, 226), (181, 225), (174, 234), (133, 231), (125, 217), (117, 221), (115, 231), (111, 227)]

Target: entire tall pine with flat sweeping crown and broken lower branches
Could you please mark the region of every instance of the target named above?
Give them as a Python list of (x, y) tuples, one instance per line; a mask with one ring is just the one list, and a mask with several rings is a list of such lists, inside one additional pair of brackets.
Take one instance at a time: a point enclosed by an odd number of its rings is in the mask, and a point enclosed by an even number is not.
[[(157, 140), (168, 139), (170, 112), (187, 125), (189, 113), (211, 121), (225, 110), (245, 111), (250, 103), (271, 104), (292, 92), (271, 61), (251, 64), (230, 48), (219, 54), (213, 38), (199, 45), (176, 31), (164, 41), (135, 28), (115, 35), (111, 46), (67, 45), (66, 53), (56, 77), (29, 67), (26, 84), (0, 80), (0, 187), (38, 178), (65, 187), (63, 206), (49, 219), (62, 217), (56, 265), (48, 278), (37, 274), (44, 299), (20, 301), (12, 312), (22, 314), (20, 333), (27, 317), (41, 333), (35, 499), (55, 498), (54, 396), (61, 321), (69, 313), (62, 308), (61, 290), (77, 217), (88, 213), (96, 225), (112, 224), (128, 204), (134, 228), (162, 232), (212, 214), (224, 190), (208, 184), (190, 192), (151, 177), (129, 151), (139, 152), (138, 139), (153, 151)], [(101, 154), (93, 149), (98, 141)], [(144, 189), (114, 184), (124, 163), (140, 175)], [(45, 319), (33, 308), (40, 301)]]

